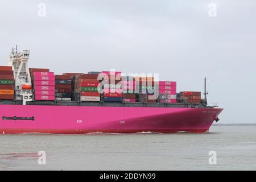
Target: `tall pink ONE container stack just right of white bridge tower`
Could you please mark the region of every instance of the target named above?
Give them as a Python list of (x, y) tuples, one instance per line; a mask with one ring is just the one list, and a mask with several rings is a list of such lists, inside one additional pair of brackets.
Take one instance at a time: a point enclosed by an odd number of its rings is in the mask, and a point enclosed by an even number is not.
[(55, 77), (53, 72), (44, 68), (30, 68), (32, 88), (34, 89), (35, 100), (55, 100)]

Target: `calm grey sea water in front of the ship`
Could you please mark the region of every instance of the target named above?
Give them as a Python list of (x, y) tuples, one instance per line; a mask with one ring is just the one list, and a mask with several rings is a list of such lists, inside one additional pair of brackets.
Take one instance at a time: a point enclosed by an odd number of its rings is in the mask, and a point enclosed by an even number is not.
[(256, 125), (214, 125), (204, 134), (4, 134), (0, 147), (0, 170), (256, 169)]

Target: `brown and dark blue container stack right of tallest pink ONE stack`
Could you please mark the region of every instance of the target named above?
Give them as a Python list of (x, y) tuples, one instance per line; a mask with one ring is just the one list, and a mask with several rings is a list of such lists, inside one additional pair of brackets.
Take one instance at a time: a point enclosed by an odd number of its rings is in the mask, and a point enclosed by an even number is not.
[(72, 100), (72, 78), (73, 75), (55, 75), (56, 100)]

